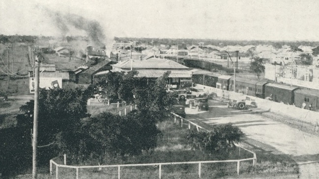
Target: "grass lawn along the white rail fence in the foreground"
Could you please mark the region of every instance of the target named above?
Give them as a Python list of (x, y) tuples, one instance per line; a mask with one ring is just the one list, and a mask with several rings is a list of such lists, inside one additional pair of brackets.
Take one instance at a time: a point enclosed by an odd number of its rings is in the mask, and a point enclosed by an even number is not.
[[(158, 124), (163, 135), (158, 141), (158, 147), (152, 153), (143, 153), (141, 156), (128, 157), (126, 161), (111, 160), (109, 164), (129, 164), (129, 163), (157, 163), (157, 162), (181, 162), (181, 161), (202, 161), (202, 160), (218, 160), (216, 155), (204, 155), (198, 150), (192, 150), (187, 145), (186, 135), (188, 129), (186, 124), (184, 128), (174, 124), (172, 121), (164, 121)], [(228, 159), (248, 158), (252, 157), (251, 153), (241, 150), (238, 156), (238, 149), (232, 151)], [(284, 160), (283, 160), (284, 159)], [(286, 160), (285, 160), (286, 159)], [(287, 158), (277, 158), (262, 153), (257, 154), (258, 164), (252, 166), (252, 161), (241, 162), (240, 176), (236, 174), (236, 163), (214, 163), (202, 164), (202, 179), (212, 178), (294, 178), (297, 173), (295, 162)], [(58, 163), (62, 163), (62, 159), (58, 159)], [(90, 165), (98, 165), (96, 161)], [(59, 178), (73, 179), (75, 177), (75, 169), (59, 168)], [(53, 175), (55, 176), (55, 166)], [(158, 179), (159, 166), (143, 166), (143, 167), (121, 167), (121, 179)], [(117, 179), (117, 167), (98, 169), (80, 169), (80, 178), (87, 179)], [(178, 164), (163, 165), (162, 179), (194, 179), (198, 178), (198, 164)]]

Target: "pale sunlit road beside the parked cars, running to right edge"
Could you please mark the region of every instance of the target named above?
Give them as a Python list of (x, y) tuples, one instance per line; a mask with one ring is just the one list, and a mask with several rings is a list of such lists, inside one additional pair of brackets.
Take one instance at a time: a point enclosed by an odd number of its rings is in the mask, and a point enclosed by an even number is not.
[(210, 101), (210, 111), (186, 108), (188, 119), (208, 125), (232, 123), (241, 128), (248, 138), (273, 147), (276, 153), (284, 153), (299, 164), (301, 179), (319, 179), (319, 137), (260, 113), (261, 109), (236, 110), (225, 104)]

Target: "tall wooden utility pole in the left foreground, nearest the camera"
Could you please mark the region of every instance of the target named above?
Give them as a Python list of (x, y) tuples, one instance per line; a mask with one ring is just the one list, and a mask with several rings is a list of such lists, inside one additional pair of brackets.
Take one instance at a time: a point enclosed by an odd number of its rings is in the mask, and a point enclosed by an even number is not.
[(37, 168), (36, 168), (36, 147), (37, 147), (37, 136), (38, 136), (38, 115), (39, 115), (39, 56), (35, 60), (35, 89), (34, 89), (34, 113), (33, 113), (33, 140), (32, 140), (32, 179), (37, 179)]

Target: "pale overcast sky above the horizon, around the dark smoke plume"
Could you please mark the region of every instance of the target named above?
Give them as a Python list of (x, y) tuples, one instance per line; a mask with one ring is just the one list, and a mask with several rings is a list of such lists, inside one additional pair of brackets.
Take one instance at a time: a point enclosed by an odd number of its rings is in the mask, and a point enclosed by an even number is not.
[(96, 20), (109, 38), (319, 41), (319, 0), (1, 0), (0, 34), (60, 35), (39, 7)]

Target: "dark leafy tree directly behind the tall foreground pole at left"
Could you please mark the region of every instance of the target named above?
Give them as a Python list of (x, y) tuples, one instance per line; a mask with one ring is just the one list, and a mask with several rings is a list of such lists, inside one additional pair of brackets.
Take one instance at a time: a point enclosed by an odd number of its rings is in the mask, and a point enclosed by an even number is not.
[[(92, 96), (90, 89), (40, 89), (39, 92), (39, 117), (38, 117), (38, 145), (56, 144), (63, 134), (77, 131), (81, 126), (81, 118), (88, 116), (87, 99)], [(20, 107), (24, 112), (17, 117), (18, 125), (33, 126), (34, 101), (31, 100)], [(69, 135), (59, 139), (74, 140)]]

